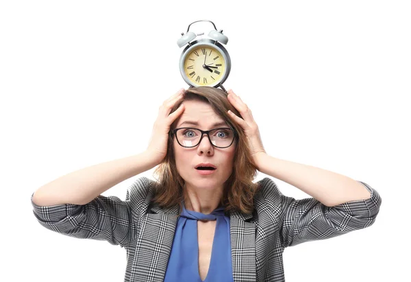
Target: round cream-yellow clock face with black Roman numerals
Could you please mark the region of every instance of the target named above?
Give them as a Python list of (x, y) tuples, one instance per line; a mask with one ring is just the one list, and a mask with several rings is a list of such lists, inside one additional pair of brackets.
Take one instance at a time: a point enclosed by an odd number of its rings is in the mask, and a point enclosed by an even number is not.
[(215, 85), (223, 79), (227, 67), (223, 55), (208, 45), (193, 48), (183, 66), (186, 77), (197, 86)]

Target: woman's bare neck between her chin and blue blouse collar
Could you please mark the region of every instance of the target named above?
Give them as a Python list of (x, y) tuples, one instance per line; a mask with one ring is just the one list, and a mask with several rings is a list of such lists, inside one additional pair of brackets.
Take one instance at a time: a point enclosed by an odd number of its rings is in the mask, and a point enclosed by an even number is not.
[(199, 189), (186, 184), (183, 193), (186, 209), (198, 211), (201, 214), (211, 214), (220, 205), (221, 198), (223, 197), (223, 187)]

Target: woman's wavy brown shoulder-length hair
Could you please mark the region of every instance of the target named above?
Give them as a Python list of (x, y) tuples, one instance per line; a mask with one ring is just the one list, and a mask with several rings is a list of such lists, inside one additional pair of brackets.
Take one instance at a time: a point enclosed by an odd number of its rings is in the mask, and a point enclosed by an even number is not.
[[(251, 214), (253, 211), (253, 197), (258, 190), (258, 183), (253, 183), (253, 179), (256, 178), (258, 169), (251, 157), (244, 131), (229, 116), (227, 111), (231, 110), (237, 116), (240, 116), (240, 113), (229, 103), (227, 93), (219, 88), (210, 86), (188, 88), (183, 96), (183, 99), (171, 109), (171, 113), (177, 110), (184, 101), (203, 101), (208, 103), (212, 110), (223, 118), (229, 127), (234, 129), (236, 151), (234, 152), (233, 171), (232, 175), (224, 183), (221, 205), (225, 207), (226, 212), (235, 210)], [(171, 124), (171, 129), (175, 129), (178, 119), (174, 120)], [(171, 134), (169, 134), (166, 156), (158, 167), (155, 168), (153, 175), (157, 181), (155, 182), (155, 195), (152, 201), (160, 205), (160, 207), (166, 208), (179, 205), (181, 211), (185, 181), (177, 172), (173, 136)]]

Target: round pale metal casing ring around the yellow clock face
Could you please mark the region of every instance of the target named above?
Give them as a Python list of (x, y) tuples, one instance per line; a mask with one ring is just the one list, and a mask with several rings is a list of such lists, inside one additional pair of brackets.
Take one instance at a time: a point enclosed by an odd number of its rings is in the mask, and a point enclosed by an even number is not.
[[(184, 81), (186, 81), (186, 83), (188, 85), (190, 85), (190, 87), (196, 87), (196, 86), (202, 86), (201, 84), (195, 84), (194, 82), (190, 81), (190, 79), (188, 79), (186, 72), (184, 70), (184, 60), (186, 60), (186, 57), (188, 55), (188, 53), (190, 53), (190, 51), (192, 49), (197, 49), (200, 46), (208, 46), (208, 47), (212, 47), (214, 49), (217, 49), (221, 55), (223, 55), (223, 58), (225, 60), (225, 71), (222, 75), (222, 79), (220, 81), (216, 81), (214, 82), (214, 84), (209, 84), (208, 86), (212, 86), (212, 87), (221, 87), (223, 88), (222, 84), (223, 82), (227, 79), (229, 72), (231, 71), (231, 59), (228, 55), (227, 50), (225, 49), (225, 47), (223, 47), (222, 44), (220, 44), (219, 42), (217, 42), (216, 40), (211, 40), (208, 38), (203, 38), (200, 40), (195, 40), (192, 42), (188, 43), (188, 46), (186, 48), (184, 48), (184, 50), (182, 51), (182, 55), (180, 55), (180, 62), (179, 62), (179, 69), (180, 69), (180, 73), (182, 74), (182, 77), (184, 79)], [(224, 88), (223, 88), (224, 90)]]

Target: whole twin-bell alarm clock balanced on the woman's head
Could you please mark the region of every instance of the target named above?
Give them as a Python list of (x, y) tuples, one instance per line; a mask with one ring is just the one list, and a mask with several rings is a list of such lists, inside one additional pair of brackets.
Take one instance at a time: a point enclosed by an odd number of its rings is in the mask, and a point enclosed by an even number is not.
[[(195, 34), (190, 31), (190, 25), (201, 21), (212, 23), (214, 30), (208, 33), (210, 39), (194, 40), (204, 33)], [(229, 75), (231, 60), (221, 43), (227, 44), (228, 38), (223, 34), (222, 29), (217, 31), (216, 25), (212, 21), (201, 21), (190, 23), (186, 34), (182, 32), (182, 38), (177, 40), (177, 45), (180, 48), (187, 44), (179, 60), (180, 73), (190, 87), (220, 87), (227, 92), (223, 87), (223, 82)]]

